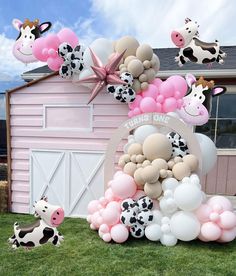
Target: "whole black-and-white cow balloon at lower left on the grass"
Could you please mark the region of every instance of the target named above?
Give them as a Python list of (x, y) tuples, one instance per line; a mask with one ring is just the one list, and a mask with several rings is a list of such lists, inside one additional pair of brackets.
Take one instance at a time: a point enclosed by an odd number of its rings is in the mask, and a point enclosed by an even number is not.
[(20, 246), (32, 248), (51, 242), (59, 246), (64, 237), (58, 232), (57, 227), (64, 220), (64, 210), (59, 206), (51, 205), (43, 197), (34, 204), (37, 220), (30, 225), (14, 224), (14, 235), (9, 238), (13, 249)]

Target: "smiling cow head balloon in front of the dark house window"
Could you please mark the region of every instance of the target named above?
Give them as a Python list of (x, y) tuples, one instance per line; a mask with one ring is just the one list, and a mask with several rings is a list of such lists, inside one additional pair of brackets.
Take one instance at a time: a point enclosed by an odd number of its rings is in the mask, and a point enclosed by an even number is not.
[(212, 97), (225, 93), (226, 88), (215, 86), (214, 81), (206, 81), (203, 77), (196, 80), (191, 74), (187, 74), (186, 80), (190, 90), (177, 113), (189, 125), (204, 125), (209, 120)]

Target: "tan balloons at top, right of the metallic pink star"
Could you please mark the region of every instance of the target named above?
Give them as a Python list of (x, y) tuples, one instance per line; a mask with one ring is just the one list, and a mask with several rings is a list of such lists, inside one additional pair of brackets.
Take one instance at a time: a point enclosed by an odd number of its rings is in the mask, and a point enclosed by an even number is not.
[(121, 73), (130, 72), (134, 77), (132, 88), (139, 93), (148, 88), (160, 68), (159, 58), (153, 53), (148, 44), (139, 44), (131, 36), (124, 36), (114, 43), (115, 52), (124, 54), (123, 62), (119, 65)]

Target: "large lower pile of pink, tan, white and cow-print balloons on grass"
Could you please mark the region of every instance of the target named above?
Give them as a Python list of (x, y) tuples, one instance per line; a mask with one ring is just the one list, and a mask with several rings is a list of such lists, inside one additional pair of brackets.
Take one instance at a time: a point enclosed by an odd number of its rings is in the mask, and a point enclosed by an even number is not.
[[(208, 172), (216, 161), (214, 143), (196, 134)], [(153, 125), (138, 127), (124, 146), (121, 171), (108, 183), (104, 197), (88, 206), (88, 222), (105, 241), (125, 242), (145, 236), (174, 246), (178, 240), (229, 242), (236, 237), (236, 215), (224, 197), (206, 201), (198, 159), (178, 133), (159, 133)], [(174, 156), (176, 145), (185, 147)], [(173, 155), (174, 154), (174, 155)], [(210, 155), (210, 156), (209, 156)]]

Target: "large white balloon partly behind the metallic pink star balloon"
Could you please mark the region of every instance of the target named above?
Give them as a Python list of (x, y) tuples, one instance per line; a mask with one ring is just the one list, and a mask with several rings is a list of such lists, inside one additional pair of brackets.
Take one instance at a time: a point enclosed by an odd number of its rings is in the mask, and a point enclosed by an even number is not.
[(90, 48), (100, 58), (103, 64), (108, 62), (109, 56), (114, 52), (113, 43), (105, 38), (98, 38), (94, 40), (88, 48), (85, 49), (83, 60), (87, 68), (93, 64)]

